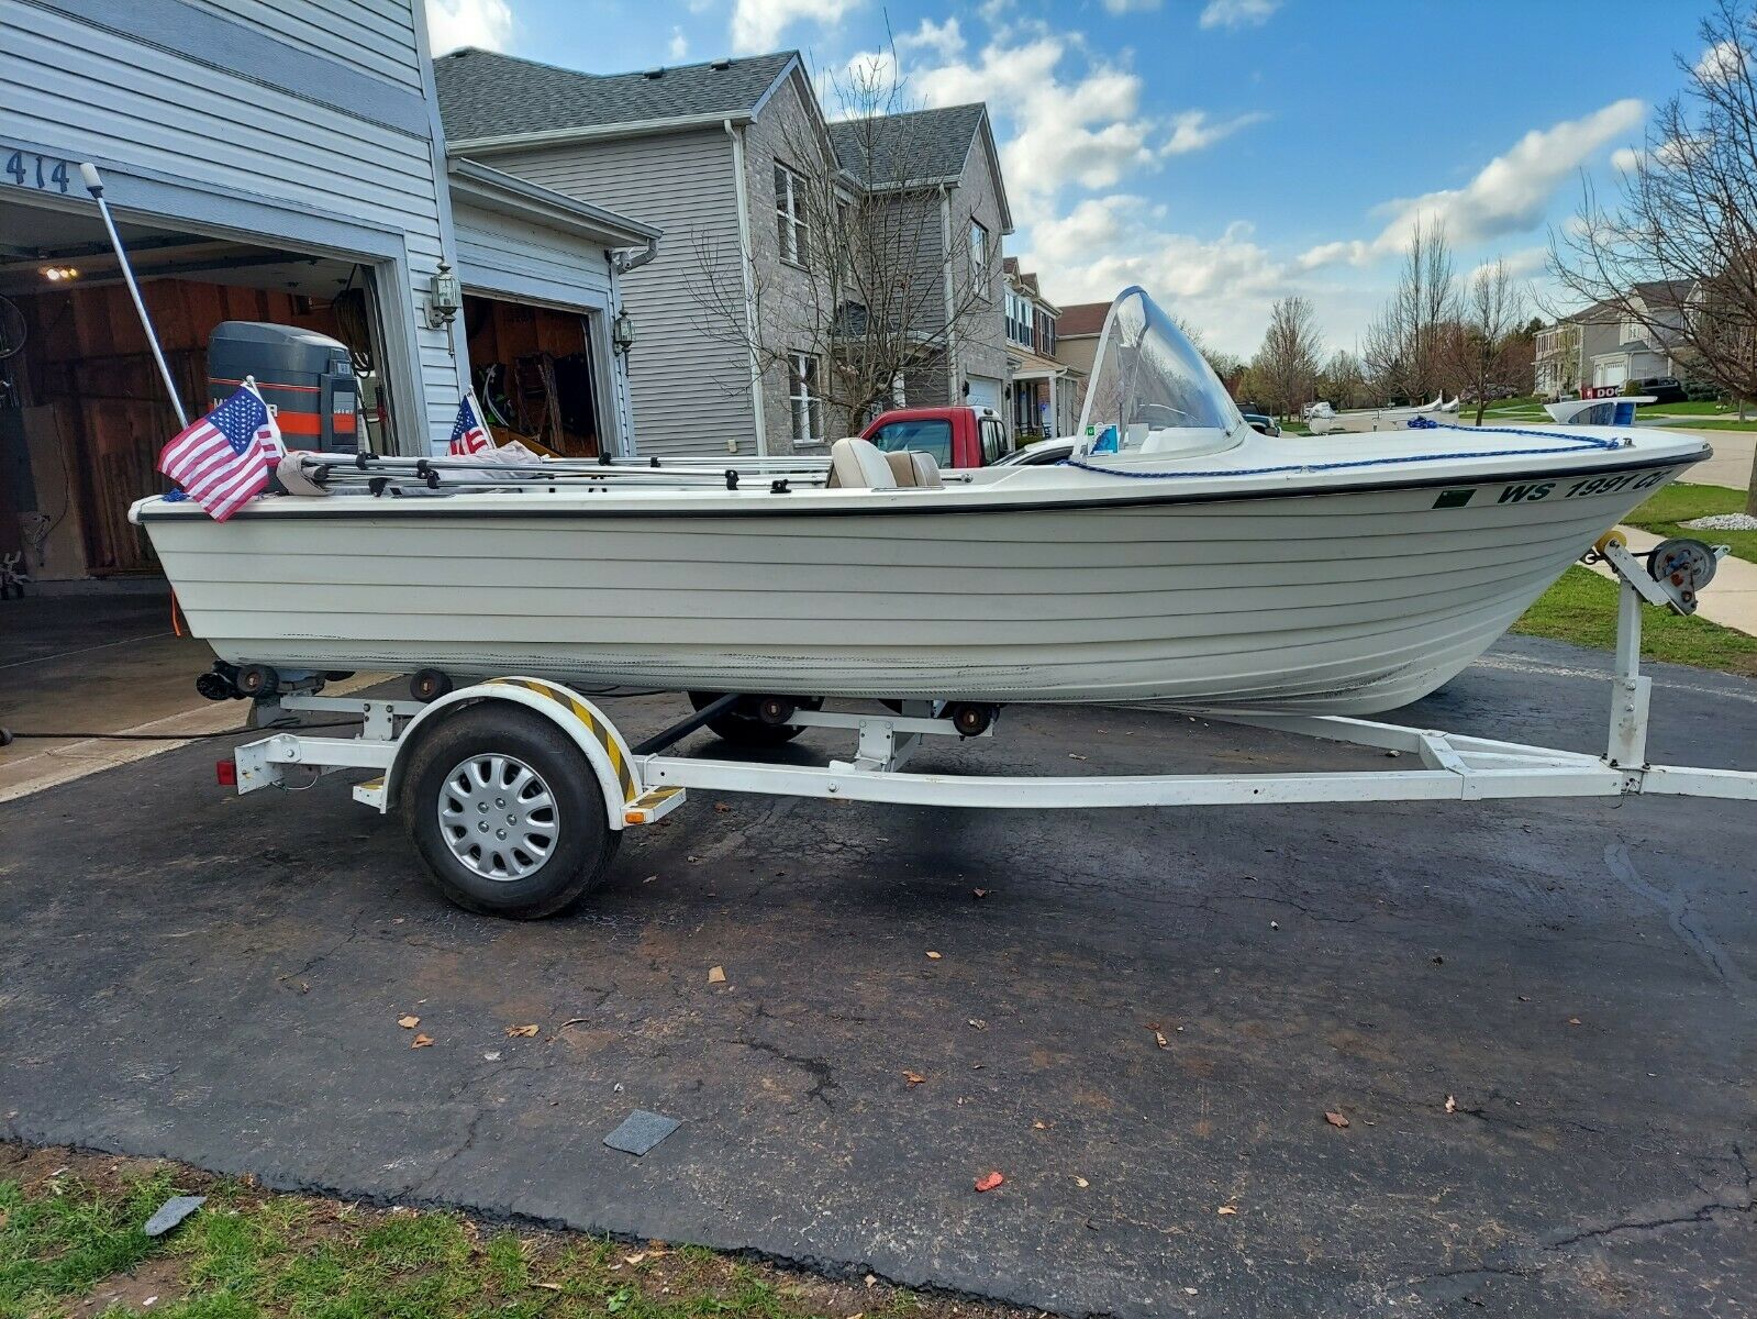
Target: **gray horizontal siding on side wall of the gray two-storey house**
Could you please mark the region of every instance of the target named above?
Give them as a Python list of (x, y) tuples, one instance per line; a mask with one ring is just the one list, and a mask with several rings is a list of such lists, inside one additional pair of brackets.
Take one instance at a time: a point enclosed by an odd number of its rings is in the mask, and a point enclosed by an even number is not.
[[(699, 297), (705, 264), (722, 292), (740, 283), (731, 146), (713, 128), (481, 158), (664, 232), (659, 257), (622, 276), (622, 302), (640, 336), (629, 353), (629, 396), (643, 455), (724, 455), (727, 440), (752, 452), (750, 359)], [(752, 202), (756, 225), (763, 209)]]

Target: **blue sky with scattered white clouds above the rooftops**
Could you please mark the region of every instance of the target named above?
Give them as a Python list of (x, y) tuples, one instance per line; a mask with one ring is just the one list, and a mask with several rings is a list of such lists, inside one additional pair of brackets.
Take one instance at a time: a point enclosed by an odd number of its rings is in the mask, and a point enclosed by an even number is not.
[(1420, 216), (1539, 281), (1696, 58), (1690, 0), (427, 0), (434, 49), (589, 72), (763, 49), (821, 77), (896, 39), (917, 104), (987, 100), (1017, 232), (1063, 302), (1142, 283), (1216, 345), (1312, 299), (1351, 348)]

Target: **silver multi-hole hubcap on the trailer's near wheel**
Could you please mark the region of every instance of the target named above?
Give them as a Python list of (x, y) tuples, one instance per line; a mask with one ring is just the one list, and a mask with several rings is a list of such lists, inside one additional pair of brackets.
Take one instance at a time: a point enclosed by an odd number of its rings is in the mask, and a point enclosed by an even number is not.
[(559, 835), (555, 797), (517, 756), (471, 756), (439, 788), (439, 837), (483, 879), (527, 879)]

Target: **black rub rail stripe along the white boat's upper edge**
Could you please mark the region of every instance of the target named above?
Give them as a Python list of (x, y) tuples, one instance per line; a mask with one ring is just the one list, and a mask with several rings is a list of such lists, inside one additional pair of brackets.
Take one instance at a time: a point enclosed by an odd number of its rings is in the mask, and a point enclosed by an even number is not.
[[(931, 514), (966, 514), (966, 515), (984, 515), (984, 514), (1023, 514), (1023, 512), (1082, 512), (1089, 508), (1158, 508), (1165, 505), (1202, 505), (1202, 503), (1251, 503), (1256, 499), (1321, 499), (1344, 494), (1383, 494), (1386, 491), (1432, 491), (1432, 489), (1464, 489), (1476, 485), (1499, 485), (1506, 482), (1543, 482), (1543, 480), (1565, 480), (1567, 477), (1611, 477), (1622, 471), (1650, 471), (1655, 468), (1678, 468), (1690, 463), (1701, 463), (1710, 457), (1713, 448), (1703, 445), (1696, 454), (1678, 454), (1673, 457), (1648, 457), (1634, 463), (1594, 463), (1587, 466), (1567, 466), (1567, 468), (1541, 468), (1537, 471), (1486, 471), (1481, 475), (1453, 473), (1450, 477), (1423, 477), (1420, 480), (1377, 480), (1377, 482), (1355, 482), (1348, 485), (1312, 485), (1295, 491), (1207, 491), (1200, 494), (1181, 494), (1177, 491), (1167, 491), (1165, 494), (1147, 494), (1147, 496), (1103, 496), (1093, 499), (1033, 499), (1033, 501), (1014, 501), (1014, 503), (986, 503), (986, 505), (898, 505), (893, 508), (812, 508), (808, 514), (812, 517), (917, 517)], [(568, 489), (573, 494), (573, 487)], [(815, 491), (810, 491), (815, 492)], [(1613, 491), (1615, 492), (1615, 491)], [(569, 506), (569, 508), (545, 508), (541, 506), (541, 494), (532, 494), (529, 503), (532, 506), (503, 506), (503, 508), (464, 508), (460, 510), (445, 496), (409, 496), (404, 499), (394, 496), (336, 496), (332, 499), (300, 499), (300, 505), (311, 508), (313, 512), (293, 512), (290, 508), (276, 508), (272, 505), (248, 505), (239, 510), (239, 517), (251, 522), (269, 521), (269, 519), (323, 519), (323, 517), (394, 517), (394, 519), (413, 519), (413, 517), (457, 517), (457, 519), (495, 519), (495, 517), (520, 517), (520, 519), (610, 519), (610, 517), (778, 517), (787, 514), (787, 499), (792, 496), (771, 496), (768, 491), (752, 491), (763, 498), (763, 505), (731, 505), (719, 508), (691, 508), (691, 506), (659, 506), (659, 508), (587, 508), (587, 506)], [(799, 494), (808, 494), (808, 491), (799, 491)], [(279, 496), (288, 498), (288, 496)], [(592, 498), (592, 496), (587, 496)], [(392, 512), (394, 510), (394, 512)], [(179, 517), (192, 517), (192, 514), (169, 514), (163, 508), (142, 510), (142, 522), (170, 522)]]

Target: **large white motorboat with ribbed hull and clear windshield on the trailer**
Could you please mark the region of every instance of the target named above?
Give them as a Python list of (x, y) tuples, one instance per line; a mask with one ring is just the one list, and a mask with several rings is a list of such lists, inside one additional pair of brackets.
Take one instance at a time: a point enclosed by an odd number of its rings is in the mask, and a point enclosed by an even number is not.
[(1081, 431), (1068, 464), (944, 478), (856, 440), (733, 475), (330, 461), (307, 470), (322, 498), (130, 517), (193, 631), (281, 677), (1370, 714), (1476, 660), (1710, 452), (1435, 426), (1316, 461), (1246, 426), (1139, 288), (1107, 317)]

